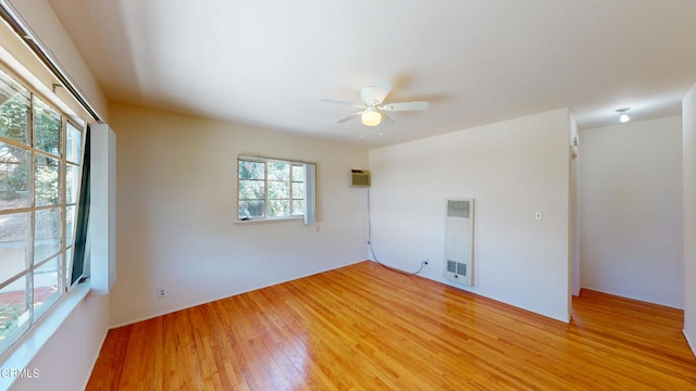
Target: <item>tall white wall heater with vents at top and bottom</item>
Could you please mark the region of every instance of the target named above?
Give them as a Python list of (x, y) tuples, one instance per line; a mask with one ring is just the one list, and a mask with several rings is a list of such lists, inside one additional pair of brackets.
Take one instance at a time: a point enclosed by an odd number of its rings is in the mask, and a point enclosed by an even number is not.
[(448, 199), (445, 217), (445, 278), (471, 286), (474, 260), (474, 199)]

